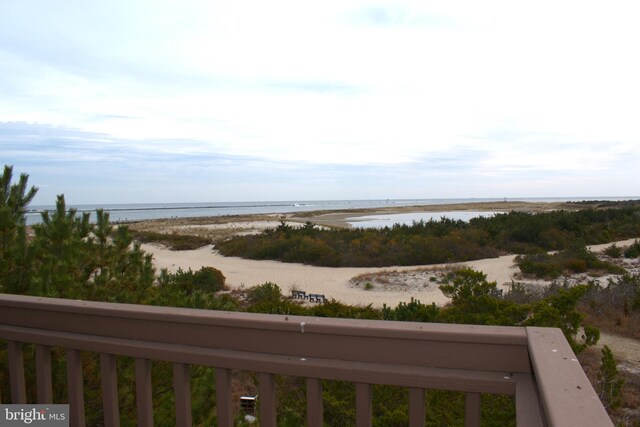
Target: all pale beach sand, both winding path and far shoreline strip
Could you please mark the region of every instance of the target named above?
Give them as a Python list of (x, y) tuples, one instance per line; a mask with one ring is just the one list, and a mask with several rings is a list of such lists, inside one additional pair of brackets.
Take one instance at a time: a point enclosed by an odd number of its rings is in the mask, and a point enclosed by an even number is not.
[[(470, 205), (470, 207), (464, 206), (463, 208), (474, 210), (483, 208), (478, 204)], [(543, 204), (542, 206), (535, 206), (535, 208), (546, 210), (550, 208), (548, 205)], [(527, 204), (527, 207), (530, 206)], [(423, 207), (420, 211), (430, 208), (432, 207)], [(486, 210), (496, 210), (495, 204), (484, 206), (484, 208)], [(452, 206), (438, 206), (437, 209), (451, 210)], [(509, 206), (506, 209), (514, 209), (514, 206)], [(403, 209), (402, 211), (411, 210)], [(413, 211), (417, 212), (419, 210), (414, 208)], [(226, 221), (217, 218), (215, 222), (199, 219), (195, 223), (193, 220), (189, 223), (166, 223), (164, 224), (164, 229), (172, 232), (189, 230), (189, 232), (202, 234), (216, 230), (224, 230), (225, 235), (255, 233), (265, 228), (276, 227), (281, 220), (291, 221), (293, 224), (310, 220), (327, 226), (344, 226), (346, 218), (365, 214), (371, 214), (371, 212), (318, 213), (315, 216), (305, 216), (303, 218), (293, 217), (292, 215), (243, 219), (227, 218)], [(629, 245), (633, 241), (634, 239), (618, 242), (618, 245)], [(608, 245), (593, 246), (592, 250), (600, 251)], [(506, 288), (510, 285), (515, 274), (518, 273), (518, 269), (514, 265), (514, 255), (466, 263), (430, 266), (331, 268), (224, 257), (217, 253), (214, 246), (211, 245), (189, 251), (171, 251), (153, 244), (144, 244), (142, 248), (146, 252), (153, 254), (154, 264), (158, 269), (167, 268), (173, 272), (178, 268), (198, 270), (203, 266), (215, 267), (222, 271), (226, 277), (227, 285), (231, 289), (246, 289), (265, 282), (273, 282), (278, 284), (285, 294), (289, 294), (291, 290), (295, 289), (307, 293), (323, 294), (329, 299), (333, 298), (346, 304), (371, 304), (374, 307), (381, 307), (383, 304), (395, 306), (400, 302), (409, 302), (412, 298), (418, 299), (423, 303), (445, 304), (447, 298), (438, 288), (437, 278), (451, 268), (469, 266), (475, 270), (482, 271), (487, 275), (489, 281), (496, 281), (500, 288)], [(363, 275), (365, 275), (364, 278)], [(365, 287), (364, 283), (368, 281), (368, 276), (366, 275), (384, 276), (383, 280), (381, 279), (384, 285), (369, 285)], [(359, 276), (360, 280), (353, 280)]]

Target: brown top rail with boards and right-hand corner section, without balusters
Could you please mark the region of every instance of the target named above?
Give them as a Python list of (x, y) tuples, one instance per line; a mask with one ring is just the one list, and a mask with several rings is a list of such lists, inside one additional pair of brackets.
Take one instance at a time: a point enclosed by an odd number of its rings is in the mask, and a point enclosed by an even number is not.
[(279, 316), (0, 294), (0, 338), (229, 369), (246, 364), (267, 373), (515, 393), (520, 412), (527, 412), (523, 402), (541, 407), (549, 425), (611, 425), (564, 335), (554, 328)]

